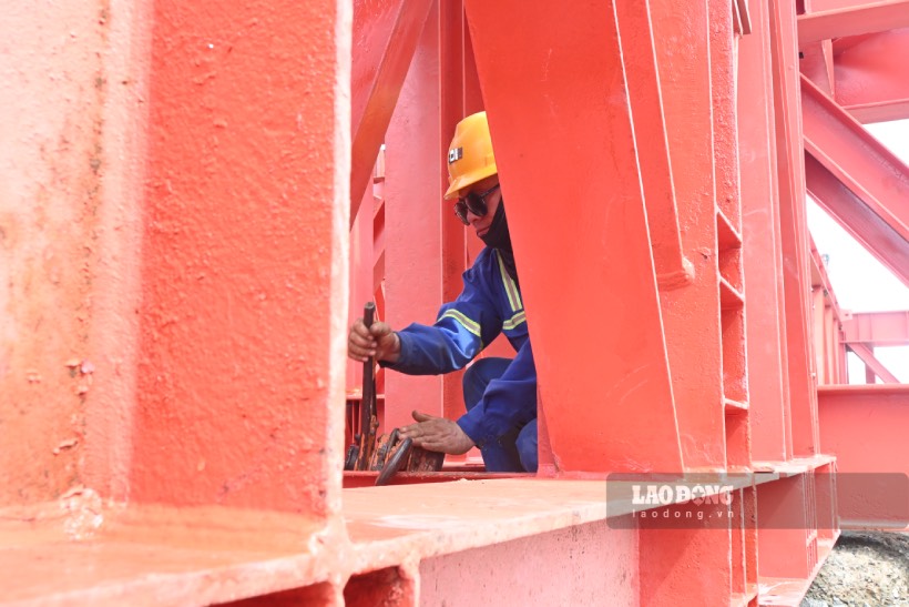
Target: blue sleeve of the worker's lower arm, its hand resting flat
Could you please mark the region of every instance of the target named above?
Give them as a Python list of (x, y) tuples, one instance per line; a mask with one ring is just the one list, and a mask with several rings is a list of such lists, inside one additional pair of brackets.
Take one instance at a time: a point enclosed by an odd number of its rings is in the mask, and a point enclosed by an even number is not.
[(458, 425), (479, 447), (537, 417), (537, 367), (530, 340), (498, 380), (487, 386), (483, 398), (458, 419)]

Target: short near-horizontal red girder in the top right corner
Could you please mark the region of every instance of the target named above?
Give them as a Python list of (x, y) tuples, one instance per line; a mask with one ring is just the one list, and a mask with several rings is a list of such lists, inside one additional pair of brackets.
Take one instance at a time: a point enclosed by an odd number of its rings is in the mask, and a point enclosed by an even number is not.
[(885, 0), (800, 14), (799, 47), (818, 40), (887, 31), (909, 26), (909, 0)]

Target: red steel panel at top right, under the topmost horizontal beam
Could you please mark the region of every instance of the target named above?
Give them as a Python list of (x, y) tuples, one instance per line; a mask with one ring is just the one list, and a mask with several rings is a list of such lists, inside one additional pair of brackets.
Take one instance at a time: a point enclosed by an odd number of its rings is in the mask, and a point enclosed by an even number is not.
[[(851, 42), (858, 41), (852, 45)], [(909, 118), (909, 28), (834, 44), (837, 102), (861, 122)]]

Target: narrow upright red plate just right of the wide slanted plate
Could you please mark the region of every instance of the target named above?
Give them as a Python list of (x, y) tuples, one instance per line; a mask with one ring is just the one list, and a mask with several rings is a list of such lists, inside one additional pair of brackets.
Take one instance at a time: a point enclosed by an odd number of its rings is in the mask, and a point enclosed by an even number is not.
[[(651, 6), (673, 183), (676, 199), (685, 201), (678, 209), (682, 246), (693, 276), (685, 289), (661, 292), (664, 340), (685, 465), (717, 468), (726, 465), (726, 453), (707, 6)], [(723, 31), (731, 34), (728, 22)], [(675, 37), (685, 40), (684, 57), (666, 43)]]

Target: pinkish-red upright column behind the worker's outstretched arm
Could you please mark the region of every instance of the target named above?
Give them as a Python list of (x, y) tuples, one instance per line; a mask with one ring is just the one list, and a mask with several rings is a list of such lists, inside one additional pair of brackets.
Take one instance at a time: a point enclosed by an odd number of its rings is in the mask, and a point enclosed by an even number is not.
[[(439, 179), (439, 7), (426, 28), (386, 135), (386, 289), (388, 322), (432, 324), (442, 302)], [(412, 423), (415, 408), (441, 415), (441, 378), (386, 374), (385, 428)]]

